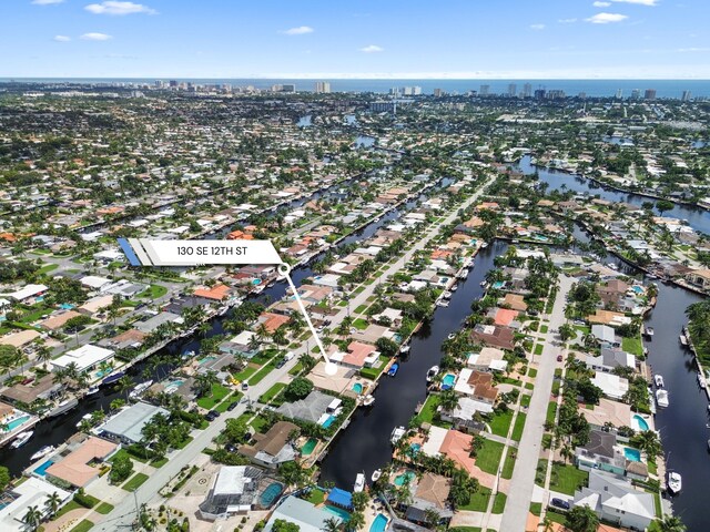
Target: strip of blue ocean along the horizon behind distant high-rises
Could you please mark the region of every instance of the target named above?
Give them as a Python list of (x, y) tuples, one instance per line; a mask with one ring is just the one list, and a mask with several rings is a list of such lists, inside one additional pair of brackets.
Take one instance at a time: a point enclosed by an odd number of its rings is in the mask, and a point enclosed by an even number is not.
[[(169, 81), (168, 79), (161, 79)], [(683, 91), (690, 91), (694, 96), (710, 96), (710, 80), (287, 80), (287, 79), (175, 79), (180, 82), (195, 84), (224, 84), (232, 86), (252, 85), (256, 89), (268, 89), (274, 84), (293, 83), (297, 91), (313, 91), (316, 81), (328, 81), (333, 92), (374, 92), (387, 93), (392, 88), (420, 86), (423, 94), (432, 94), (435, 89), (443, 89), (447, 93), (464, 94), (468, 91), (480, 91), (480, 85), (489, 85), (490, 94), (507, 94), (508, 85), (514, 83), (517, 93), (530, 83), (531, 90), (562, 90), (569, 96), (580, 92), (588, 96), (613, 96), (620, 89), (623, 98), (629, 98), (631, 91), (638, 89), (643, 96), (647, 89), (655, 89), (657, 98), (681, 98)], [(148, 78), (0, 78), (0, 83), (18, 82), (68, 82), (68, 83), (154, 83), (155, 79)]]

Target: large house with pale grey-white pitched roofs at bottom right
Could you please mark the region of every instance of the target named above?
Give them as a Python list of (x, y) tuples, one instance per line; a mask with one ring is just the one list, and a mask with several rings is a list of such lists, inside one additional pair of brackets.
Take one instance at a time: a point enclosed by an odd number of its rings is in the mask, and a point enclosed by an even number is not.
[(589, 507), (604, 521), (633, 530), (646, 530), (656, 519), (652, 493), (602, 471), (589, 471), (589, 488), (576, 491), (572, 504)]

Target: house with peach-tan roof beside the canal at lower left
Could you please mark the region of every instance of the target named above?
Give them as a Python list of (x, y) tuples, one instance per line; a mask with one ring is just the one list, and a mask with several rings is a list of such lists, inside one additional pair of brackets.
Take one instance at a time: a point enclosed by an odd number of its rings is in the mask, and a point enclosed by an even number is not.
[(67, 451), (52, 458), (53, 463), (47, 468), (45, 478), (61, 485), (84, 488), (99, 478), (102, 463), (119, 449), (120, 444), (95, 436), (70, 443)]

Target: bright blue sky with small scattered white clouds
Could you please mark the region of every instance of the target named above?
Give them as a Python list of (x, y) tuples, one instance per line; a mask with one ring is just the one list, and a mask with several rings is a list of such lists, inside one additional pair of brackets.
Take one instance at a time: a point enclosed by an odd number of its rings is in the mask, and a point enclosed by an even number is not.
[(0, 0), (0, 76), (710, 79), (709, 20), (709, 0)]

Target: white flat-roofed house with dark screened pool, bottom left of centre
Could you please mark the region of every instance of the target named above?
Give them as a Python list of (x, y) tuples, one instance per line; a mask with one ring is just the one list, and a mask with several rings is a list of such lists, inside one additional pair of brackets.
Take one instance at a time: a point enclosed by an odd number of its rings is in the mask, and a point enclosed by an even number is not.
[(262, 469), (222, 466), (210, 492), (200, 504), (200, 515), (207, 521), (215, 521), (251, 510), (266, 510), (276, 502), (282, 491), (283, 484)]

